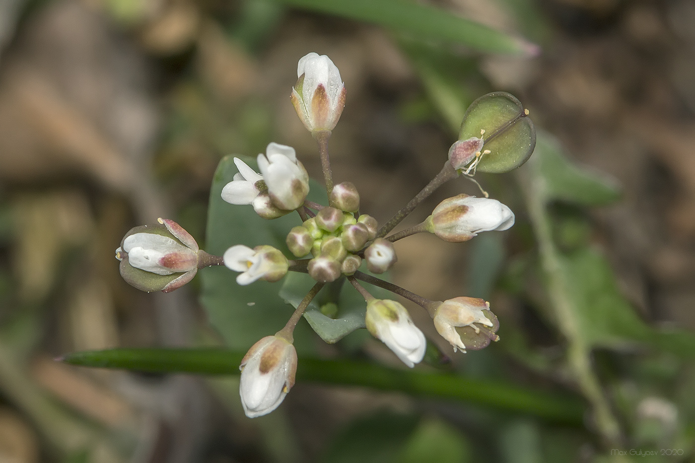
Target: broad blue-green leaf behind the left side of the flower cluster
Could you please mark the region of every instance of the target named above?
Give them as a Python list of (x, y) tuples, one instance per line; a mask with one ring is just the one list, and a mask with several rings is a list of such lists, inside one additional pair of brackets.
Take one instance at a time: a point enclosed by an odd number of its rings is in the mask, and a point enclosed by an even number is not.
[[(256, 162), (243, 158), (251, 168)], [(222, 200), (222, 187), (236, 174), (232, 156), (227, 156), (218, 165), (210, 190), (208, 209), (206, 251), (221, 256), (227, 248), (243, 244), (249, 247), (272, 245), (286, 253), (285, 238), (292, 227), (302, 220), (296, 213), (265, 220), (260, 218), (252, 206), (238, 206)], [(256, 170), (257, 172), (257, 170)], [(311, 182), (309, 200), (325, 202), (325, 193)], [(236, 272), (225, 267), (204, 268), (201, 301), (213, 327), (222, 335), (224, 343), (231, 349), (245, 351), (263, 336), (274, 334), (284, 327), (292, 314), (292, 307), (278, 295), (283, 283), (254, 282), (247, 286), (236, 284)], [(303, 296), (302, 296), (303, 297)], [(308, 325), (300, 323), (294, 333), (297, 352), (314, 352), (315, 337)]]

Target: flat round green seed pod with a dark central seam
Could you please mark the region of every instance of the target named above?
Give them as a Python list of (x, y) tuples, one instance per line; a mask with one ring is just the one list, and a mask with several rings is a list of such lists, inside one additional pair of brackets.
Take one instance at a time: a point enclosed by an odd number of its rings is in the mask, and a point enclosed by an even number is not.
[(480, 172), (514, 170), (529, 159), (536, 146), (533, 122), (526, 117), (521, 101), (507, 92), (488, 93), (468, 106), (459, 140), (471, 137), (483, 138), (483, 149), (491, 151), (480, 159)]

